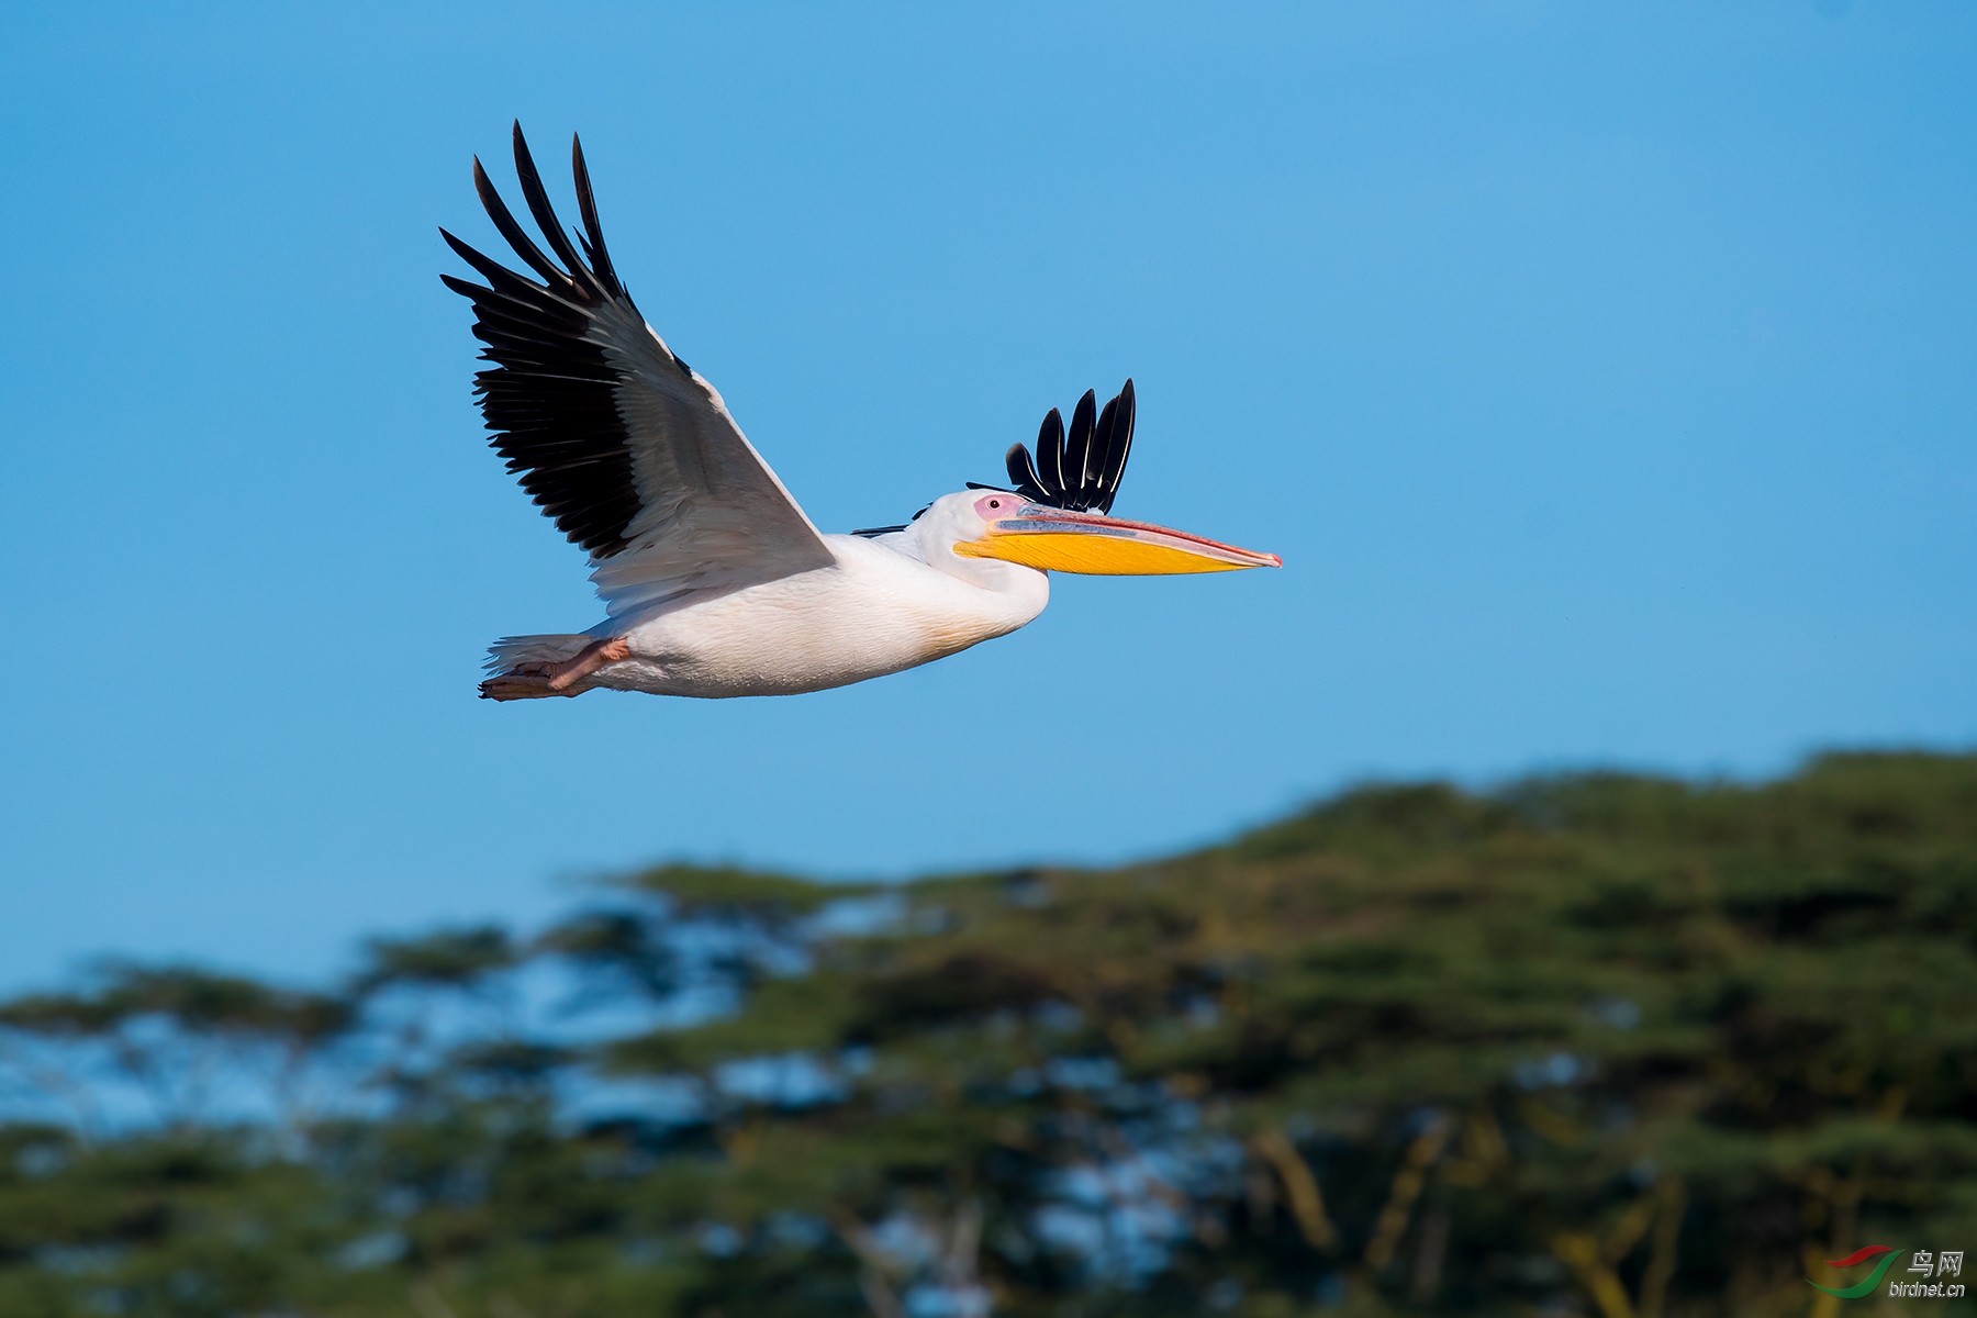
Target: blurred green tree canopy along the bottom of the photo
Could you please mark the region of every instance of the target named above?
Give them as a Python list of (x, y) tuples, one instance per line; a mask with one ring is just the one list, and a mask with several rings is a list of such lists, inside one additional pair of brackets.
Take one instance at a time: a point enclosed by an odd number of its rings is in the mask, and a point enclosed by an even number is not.
[(672, 865), (338, 992), (113, 966), (0, 1004), (0, 1314), (1827, 1316), (1821, 1259), (1977, 1243), (1977, 757)]

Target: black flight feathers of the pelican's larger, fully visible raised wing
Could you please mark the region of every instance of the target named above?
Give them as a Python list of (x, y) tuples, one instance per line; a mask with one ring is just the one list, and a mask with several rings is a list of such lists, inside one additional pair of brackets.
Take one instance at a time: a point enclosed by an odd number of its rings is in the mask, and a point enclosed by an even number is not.
[[(556, 526), (591, 557), (607, 559), (625, 549), (625, 532), (639, 516), (641, 500), (633, 480), (629, 433), (617, 407), (619, 375), (605, 352), (585, 338), (591, 312), (617, 302), (637, 320), (637, 306), (619, 283), (597, 223), (591, 176), (583, 164), (583, 144), (571, 136), (569, 164), (583, 217), (579, 253), (556, 217), (542, 174), (514, 126), (514, 172), (522, 198), (542, 229), (546, 255), (494, 192), (480, 160), (474, 160), (474, 190), (516, 257), (542, 283), (506, 269), (445, 229), (447, 245), (486, 279), (486, 287), (443, 275), (449, 288), (474, 304), (474, 338), (486, 344), (482, 360), (492, 370), (474, 375), (480, 415), (488, 441), (530, 498)], [(674, 356), (674, 366), (686, 364)]]

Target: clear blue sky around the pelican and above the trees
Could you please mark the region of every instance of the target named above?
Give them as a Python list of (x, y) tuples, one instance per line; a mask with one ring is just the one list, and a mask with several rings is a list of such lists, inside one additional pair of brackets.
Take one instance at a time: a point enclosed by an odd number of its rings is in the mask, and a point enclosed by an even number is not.
[[(583, 132), (824, 530), (1131, 373), (1119, 512), (1283, 571), (1058, 577), (793, 700), (476, 700), (599, 617), (437, 279), (512, 117), (565, 204)], [(0, 166), (0, 988), (316, 976), (658, 858), (1115, 862), (1366, 775), (1977, 739), (1967, 0), (8, 4)]]

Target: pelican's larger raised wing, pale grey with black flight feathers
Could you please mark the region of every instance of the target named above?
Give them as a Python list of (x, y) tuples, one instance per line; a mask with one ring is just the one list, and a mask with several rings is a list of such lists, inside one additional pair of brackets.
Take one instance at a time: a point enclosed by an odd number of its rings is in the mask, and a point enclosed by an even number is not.
[(441, 275), (473, 298), (492, 370), (474, 375), (490, 445), (522, 488), (583, 545), (611, 617), (684, 591), (733, 589), (836, 559), (696, 375), (633, 306), (605, 251), (583, 146), (571, 138), (583, 233), (571, 245), (514, 126), (514, 170), (552, 261), (516, 223), (474, 160), (494, 227), (542, 283), (439, 233), (486, 287)]

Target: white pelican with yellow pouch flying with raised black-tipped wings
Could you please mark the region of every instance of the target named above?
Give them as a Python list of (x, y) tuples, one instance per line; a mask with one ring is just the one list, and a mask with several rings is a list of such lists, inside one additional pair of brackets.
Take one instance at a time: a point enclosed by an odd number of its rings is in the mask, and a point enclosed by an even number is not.
[[(1279, 567), (1200, 535), (1109, 516), (1133, 449), (1133, 381), (1066, 431), (1056, 409), (1036, 458), (1008, 451), (1010, 488), (969, 484), (911, 522), (826, 535), (805, 516), (714, 385), (645, 322), (597, 225), (571, 138), (583, 231), (563, 231), (514, 126), (514, 168), (550, 253), (516, 223), (480, 160), (474, 188), (534, 273), (445, 229), (484, 285), (443, 275), (474, 306), (490, 370), (474, 375), (488, 441), (558, 530), (591, 555), (605, 620), (506, 636), (488, 700), (795, 696), (927, 664), (1044, 611), (1052, 571), (1164, 575)], [(575, 237), (575, 243), (571, 243)], [(581, 247), (581, 251), (579, 251)]]

